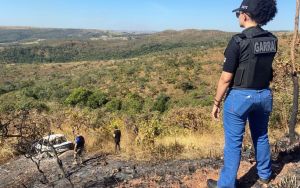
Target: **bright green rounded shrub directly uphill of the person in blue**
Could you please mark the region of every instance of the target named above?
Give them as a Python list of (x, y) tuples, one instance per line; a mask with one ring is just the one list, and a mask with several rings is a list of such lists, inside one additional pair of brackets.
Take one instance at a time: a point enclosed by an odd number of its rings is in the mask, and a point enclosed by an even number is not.
[(91, 95), (92, 92), (90, 90), (80, 87), (73, 90), (65, 100), (65, 103), (72, 106), (76, 106), (77, 104), (86, 105), (88, 98)]

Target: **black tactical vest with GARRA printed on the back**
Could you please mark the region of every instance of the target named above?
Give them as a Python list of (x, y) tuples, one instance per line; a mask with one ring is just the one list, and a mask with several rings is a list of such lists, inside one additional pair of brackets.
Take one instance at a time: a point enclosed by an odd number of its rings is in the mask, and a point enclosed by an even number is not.
[(240, 56), (232, 87), (268, 88), (273, 79), (272, 63), (277, 52), (277, 38), (264, 30), (254, 35), (238, 34), (233, 38), (240, 46)]

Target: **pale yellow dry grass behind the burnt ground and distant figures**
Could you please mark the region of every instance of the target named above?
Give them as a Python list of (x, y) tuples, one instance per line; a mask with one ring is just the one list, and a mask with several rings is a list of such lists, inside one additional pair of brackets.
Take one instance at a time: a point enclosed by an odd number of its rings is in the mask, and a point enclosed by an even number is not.
[[(199, 159), (199, 158), (210, 158), (210, 157), (222, 157), (223, 146), (224, 146), (224, 135), (223, 128), (220, 123), (217, 123), (214, 127), (214, 131), (210, 133), (200, 134), (195, 132), (178, 133), (177, 135), (164, 136), (155, 140), (155, 145), (151, 147), (145, 147), (139, 145), (137, 138), (138, 136), (132, 134), (124, 128), (124, 125), (119, 120), (112, 122), (110, 130), (81, 130), (81, 135), (86, 138), (86, 149), (89, 153), (102, 152), (102, 153), (114, 153), (114, 141), (113, 141), (113, 126), (119, 124), (119, 128), (122, 131), (121, 138), (121, 150), (122, 152), (117, 156), (127, 160), (138, 160), (138, 161), (149, 161), (154, 156), (160, 156), (160, 147), (168, 149), (168, 152), (173, 152), (170, 149), (175, 145), (183, 147), (182, 153), (177, 153), (175, 159)], [(69, 140), (74, 140), (74, 135), (69, 126), (63, 126), (62, 130), (53, 129), (55, 133), (63, 133)], [(296, 129), (297, 133), (300, 134), (300, 126)], [(111, 133), (111, 134), (110, 134)], [(282, 131), (273, 130), (270, 132), (270, 142), (274, 143), (278, 138), (282, 137)], [(249, 128), (246, 129), (244, 138), (245, 145), (251, 145), (251, 136)], [(7, 149), (0, 153), (8, 153), (12, 155), (11, 151)], [(176, 153), (176, 151), (174, 151)], [(162, 156), (163, 158), (163, 156)]]

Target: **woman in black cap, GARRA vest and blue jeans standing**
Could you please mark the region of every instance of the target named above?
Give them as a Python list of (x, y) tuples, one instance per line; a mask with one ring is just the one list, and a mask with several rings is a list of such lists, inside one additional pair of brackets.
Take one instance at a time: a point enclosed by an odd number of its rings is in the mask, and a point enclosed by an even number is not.
[(221, 101), (227, 91), (223, 124), (225, 133), (224, 166), (218, 181), (209, 179), (209, 188), (236, 187), (241, 147), (246, 121), (249, 121), (255, 148), (260, 183), (271, 177), (271, 152), (268, 122), (272, 111), (272, 62), (277, 52), (277, 38), (261, 26), (277, 13), (275, 0), (244, 0), (234, 10), (240, 26), (225, 50), (223, 72), (218, 83), (212, 116), (219, 118)]

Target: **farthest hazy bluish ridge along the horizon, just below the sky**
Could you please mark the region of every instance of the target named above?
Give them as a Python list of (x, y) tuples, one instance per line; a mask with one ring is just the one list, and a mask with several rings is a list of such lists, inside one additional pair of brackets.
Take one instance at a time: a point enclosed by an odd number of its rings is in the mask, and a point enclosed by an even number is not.
[(225, 32), (217, 30), (166, 30), (162, 32), (136, 32), (136, 31), (104, 31), (96, 29), (56, 29), (56, 28), (32, 28), (32, 27), (0, 27), (0, 43), (22, 43), (28, 41), (43, 40), (95, 40), (107, 39), (105, 37), (133, 37), (152, 36), (157, 40), (184, 40), (221, 36)]

